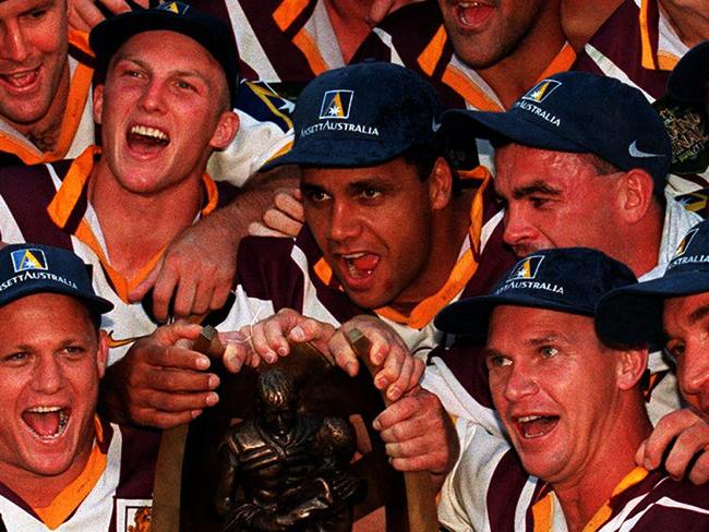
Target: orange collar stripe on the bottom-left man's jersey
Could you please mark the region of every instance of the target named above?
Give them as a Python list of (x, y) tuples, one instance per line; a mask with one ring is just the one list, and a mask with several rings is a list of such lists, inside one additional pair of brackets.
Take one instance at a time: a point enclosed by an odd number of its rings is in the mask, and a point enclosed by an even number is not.
[(94, 428), (96, 440), (84, 470), (55, 497), (49, 506), (33, 508), (41, 522), (51, 530), (58, 528), (79, 508), (106, 470), (108, 457), (100, 450), (104, 443), (104, 431), (97, 416), (94, 418)]

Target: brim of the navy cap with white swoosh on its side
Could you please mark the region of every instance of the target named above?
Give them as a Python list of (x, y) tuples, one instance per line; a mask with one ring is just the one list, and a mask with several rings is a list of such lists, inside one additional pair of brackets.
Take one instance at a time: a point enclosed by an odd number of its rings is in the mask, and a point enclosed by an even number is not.
[(585, 146), (525, 118), (526, 111), (480, 112), (454, 109), (442, 117), (443, 135), (471, 135), (495, 143), (514, 142), (542, 149), (582, 153)]

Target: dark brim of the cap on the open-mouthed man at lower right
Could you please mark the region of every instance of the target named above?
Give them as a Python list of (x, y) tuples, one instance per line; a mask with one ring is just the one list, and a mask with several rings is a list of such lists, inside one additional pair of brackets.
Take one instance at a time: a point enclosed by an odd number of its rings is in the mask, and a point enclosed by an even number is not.
[(490, 315), (500, 305), (525, 306), (528, 309), (543, 309), (581, 316), (593, 316), (593, 312), (590, 310), (584, 311), (576, 306), (521, 294), (516, 294), (514, 298), (482, 295), (449, 304), (435, 317), (434, 325), (444, 332), (472, 336), (473, 338), (484, 340), (488, 337)]

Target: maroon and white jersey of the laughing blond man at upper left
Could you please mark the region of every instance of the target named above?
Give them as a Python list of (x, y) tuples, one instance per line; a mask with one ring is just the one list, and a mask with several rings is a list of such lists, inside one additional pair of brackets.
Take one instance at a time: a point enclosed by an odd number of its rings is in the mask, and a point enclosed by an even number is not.
[[(132, 279), (112, 267), (100, 222), (87, 200), (88, 177), (96, 157), (98, 149), (92, 147), (74, 160), (0, 168), (0, 240), (63, 247), (92, 265), (94, 290), (113, 303), (113, 310), (101, 316), (101, 327), (109, 332), (109, 363), (113, 363), (137, 337), (157, 328), (147, 305), (130, 302), (128, 294), (145, 279), (160, 254)], [(207, 174), (202, 183), (205, 201), (200, 216), (225, 205), (237, 192), (228, 183), (215, 183)]]

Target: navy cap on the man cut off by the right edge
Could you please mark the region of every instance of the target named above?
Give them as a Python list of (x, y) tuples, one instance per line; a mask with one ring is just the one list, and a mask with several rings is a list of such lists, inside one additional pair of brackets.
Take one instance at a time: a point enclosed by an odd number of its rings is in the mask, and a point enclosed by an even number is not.
[(664, 300), (709, 292), (709, 220), (682, 239), (659, 279), (608, 293), (599, 303), (598, 332), (617, 343), (662, 346)]

